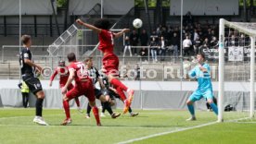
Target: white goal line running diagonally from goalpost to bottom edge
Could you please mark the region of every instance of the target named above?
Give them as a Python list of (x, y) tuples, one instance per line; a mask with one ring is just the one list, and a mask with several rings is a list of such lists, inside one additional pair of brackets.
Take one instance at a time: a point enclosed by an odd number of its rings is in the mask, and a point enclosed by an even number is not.
[(192, 126), (192, 127), (187, 127), (187, 128), (175, 129), (175, 130), (171, 130), (171, 131), (166, 131), (166, 132), (162, 132), (162, 133), (149, 135), (149, 136), (142, 137), (142, 138), (134, 138), (134, 139), (130, 139), (130, 140), (127, 140), (127, 141), (122, 141), (122, 142), (119, 142), (118, 144), (132, 143), (134, 141), (144, 140), (144, 139), (147, 139), (147, 138), (154, 138), (154, 137), (163, 136), (163, 135), (167, 135), (167, 134), (172, 134), (172, 133), (176, 133), (176, 132), (195, 129), (195, 128), (199, 128), (199, 127), (203, 127), (203, 126), (211, 126), (211, 125), (214, 125), (216, 123), (218, 123), (218, 122), (211, 122), (211, 123), (207, 123), (207, 124), (203, 124), (203, 125), (199, 125), (199, 126)]

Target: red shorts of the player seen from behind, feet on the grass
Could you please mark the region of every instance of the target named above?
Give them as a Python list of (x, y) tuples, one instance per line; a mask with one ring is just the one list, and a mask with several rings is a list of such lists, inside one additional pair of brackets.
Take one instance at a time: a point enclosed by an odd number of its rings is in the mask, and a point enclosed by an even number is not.
[(66, 97), (71, 100), (82, 95), (85, 95), (89, 102), (96, 101), (95, 89), (92, 79), (89, 79), (86, 82), (76, 83), (74, 88), (67, 92)]

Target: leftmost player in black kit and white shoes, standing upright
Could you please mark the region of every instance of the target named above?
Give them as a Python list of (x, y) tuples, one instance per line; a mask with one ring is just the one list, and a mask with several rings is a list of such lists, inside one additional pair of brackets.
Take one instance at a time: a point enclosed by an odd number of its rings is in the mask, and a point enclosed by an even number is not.
[(23, 43), (23, 48), (21, 52), (19, 52), (19, 65), (22, 79), (36, 96), (35, 117), (33, 122), (38, 125), (47, 126), (48, 124), (45, 123), (45, 120), (42, 117), (45, 93), (42, 89), (40, 80), (34, 75), (34, 72), (42, 72), (43, 68), (34, 64), (32, 61), (32, 53), (30, 50), (32, 45), (31, 36), (23, 35), (21, 37), (21, 42)]

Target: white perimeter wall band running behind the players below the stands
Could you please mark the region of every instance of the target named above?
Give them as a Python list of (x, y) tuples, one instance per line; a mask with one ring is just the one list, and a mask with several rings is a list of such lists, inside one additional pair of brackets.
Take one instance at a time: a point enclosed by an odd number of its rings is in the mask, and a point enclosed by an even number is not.
[[(58, 89), (58, 80), (53, 82), (53, 86), (49, 87), (49, 80), (42, 80), (44, 89)], [(122, 81), (128, 87), (134, 90), (196, 90), (198, 87), (197, 81)], [(1, 79), (0, 89), (17, 89), (18, 79)], [(250, 91), (250, 82), (225, 82), (226, 91)], [(218, 82), (212, 82), (213, 90), (218, 90)]]

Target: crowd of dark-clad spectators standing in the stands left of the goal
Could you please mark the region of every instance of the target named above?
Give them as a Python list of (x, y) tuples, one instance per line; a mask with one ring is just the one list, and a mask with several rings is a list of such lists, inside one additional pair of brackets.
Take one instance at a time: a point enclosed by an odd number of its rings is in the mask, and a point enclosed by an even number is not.
[[(151, 32), (141, 30), (138, 33), (137, 30), (132, 30), (130, 35), (125, 37), (123, 56), (127, 50), (130, 56), (147, 57), (150, 54), (153, 61), (164, 61), (165, 56), (195, 55), (200, 53), (203, 47), (217, 48), (218, 32), (218, 25), (210, 24), (208, 21), (204, 24), (194, 22), (188, 12), (183, 22), (182, 41), (179, 25), (159, 25)], [(149, 46), (149, 49), (143, 46)]]

